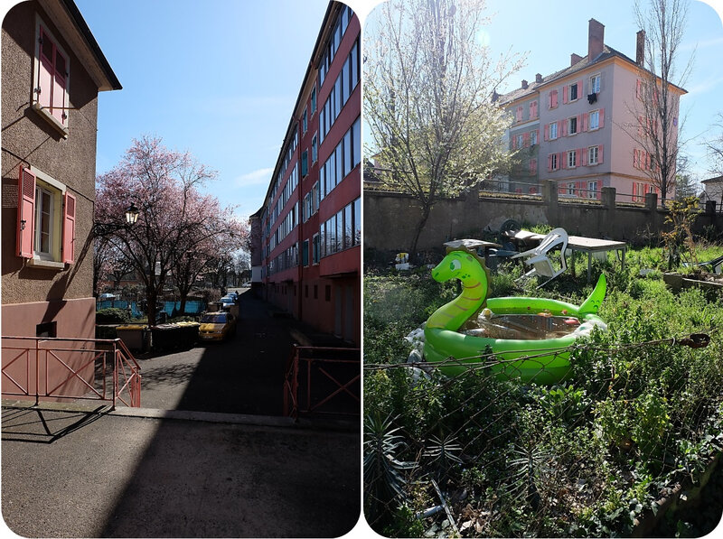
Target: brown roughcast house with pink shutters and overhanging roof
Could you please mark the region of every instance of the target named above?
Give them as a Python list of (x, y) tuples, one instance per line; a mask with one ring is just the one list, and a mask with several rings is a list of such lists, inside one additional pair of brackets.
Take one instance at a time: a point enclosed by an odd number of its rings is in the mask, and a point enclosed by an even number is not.
[[(98, 94), (120, 88), (72, 0), (23, 2), (6, 14), (4, 338), (95, 337), (91, 230)], [(5, 353), (3, 362), (5, 367)]]

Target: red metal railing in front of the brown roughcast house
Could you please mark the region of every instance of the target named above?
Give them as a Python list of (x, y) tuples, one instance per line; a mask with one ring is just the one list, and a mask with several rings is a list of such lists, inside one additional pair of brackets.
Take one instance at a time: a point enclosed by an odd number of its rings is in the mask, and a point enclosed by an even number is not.
[(2, 350), (4, 397), (141, 404), (140, 366), (121, 339), (4, 337)]

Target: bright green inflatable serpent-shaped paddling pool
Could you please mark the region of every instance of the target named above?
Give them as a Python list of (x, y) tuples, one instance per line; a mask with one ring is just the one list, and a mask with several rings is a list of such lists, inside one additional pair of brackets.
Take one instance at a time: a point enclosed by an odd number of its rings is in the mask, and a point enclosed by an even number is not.
[[(462, 293), (446, 303), (427, 320), (424, 329), (424, 355), (430, 362), (446, 362), (440, 370), (454, 376), (468, 367), (480, 366), (481, 356), (494, 354), (497, 362), (490, 368), (501, 378), (520, 378), (523, 382), (556, 384), (570, 371), (569, 347), (581, 335), (606, 324), (597, 310), (606, 293), (606, 278), (601, 274), (595, 290), (580, 306), (544, 298), (489, 298), (489, 270), (484, 261), (466, 249), (450, 250), (432, 270), (438, 283), (451, 279), (462, 282)], [(465, 321), (487, 307), (494, 315), (538, 314), (576, 318), (580, 325), (567, 335), (553, 339), (492, 339), (460, 333)], [(449, 360), (455, 358), (455, 360)], [(488, 359), (489, 361), (489, 359)]]

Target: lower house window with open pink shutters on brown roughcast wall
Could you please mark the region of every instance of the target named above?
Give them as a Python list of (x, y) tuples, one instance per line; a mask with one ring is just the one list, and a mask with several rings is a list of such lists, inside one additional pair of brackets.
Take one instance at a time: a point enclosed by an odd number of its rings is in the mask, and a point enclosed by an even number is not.
[(20, 169), (17, 255), (30, 265), (61, 269), (75, 258), (76, 198), (60, 181), (34, 168)]

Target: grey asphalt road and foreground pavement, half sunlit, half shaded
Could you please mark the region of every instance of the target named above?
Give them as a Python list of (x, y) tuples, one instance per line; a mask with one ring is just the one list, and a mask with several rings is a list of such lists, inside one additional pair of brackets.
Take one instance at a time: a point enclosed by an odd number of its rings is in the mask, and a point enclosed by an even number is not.
[[(242, 293), (236, 338), (139, 358), (140, 410), (4, 407), (2, 510), (46, 537), (335, 537), (361, 515), (360, 429), (281, 416), (292, 342)], [(4, 403), (6, 404), (6, 403)]]

